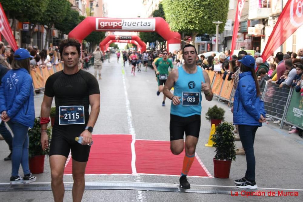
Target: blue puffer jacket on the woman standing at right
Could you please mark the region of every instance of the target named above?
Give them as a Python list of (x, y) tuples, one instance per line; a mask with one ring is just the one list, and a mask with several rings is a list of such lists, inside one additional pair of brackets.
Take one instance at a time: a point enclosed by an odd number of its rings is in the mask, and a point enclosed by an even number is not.
[(257, 96), (255, 80), (251, 72), (239, 75), (239, 83), (234, 97), (234, 124), (258, 125), (261, 114), (265, 117), (264, 103)]

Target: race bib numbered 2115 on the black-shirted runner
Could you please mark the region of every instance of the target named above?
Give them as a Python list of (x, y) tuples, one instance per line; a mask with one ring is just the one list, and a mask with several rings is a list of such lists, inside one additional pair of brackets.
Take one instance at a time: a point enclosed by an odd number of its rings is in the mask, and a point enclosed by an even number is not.
[(84, 106), (59, 106), (59, 125), (85, 124)]

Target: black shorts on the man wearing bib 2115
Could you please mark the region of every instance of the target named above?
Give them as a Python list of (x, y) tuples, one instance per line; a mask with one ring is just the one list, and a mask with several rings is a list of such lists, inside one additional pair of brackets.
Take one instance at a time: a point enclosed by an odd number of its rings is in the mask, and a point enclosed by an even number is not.
[(83, 129), (79, 129), (77, 132), (64, 132), (61, 130), (59, 131), (58, 129), (54, 130), (52, 133), (49, 155), (62, 155), (68, 158), (69, 151), (71, 150), (72, 159), (74, 159), (75, 161), (88, 161), (91, 146), (81, 145), (77, 141), (75, 141), (75, 137), (78, 137), (82, 133), (82, 131), (84, 131), (85, 126), (82, 127)]

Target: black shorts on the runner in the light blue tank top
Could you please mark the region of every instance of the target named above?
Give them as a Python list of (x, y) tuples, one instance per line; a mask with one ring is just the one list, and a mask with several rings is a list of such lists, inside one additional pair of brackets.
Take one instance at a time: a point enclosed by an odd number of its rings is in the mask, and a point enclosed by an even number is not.
[(170, 140), (184, 139), (185, 136), (191, 135), (199, 138), (201, 115), (192, 115), (188, 117), (181, 117), (170, 115), (169, 131)]

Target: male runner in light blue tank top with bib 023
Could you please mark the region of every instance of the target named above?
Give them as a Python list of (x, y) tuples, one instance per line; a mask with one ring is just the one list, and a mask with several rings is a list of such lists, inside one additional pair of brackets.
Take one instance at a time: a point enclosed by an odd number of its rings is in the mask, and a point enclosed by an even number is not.
[[(184, 149), (185, 156), (180, 177), (180, 186), (190, 188), (187, 174), (195, 158), (201, 125), (201, 100), (204, 92), (208, 101), (212, 100), (210, 80), (208, 74), (196, 66), (197, 50), (187, 44), (183, 48), (185, 64), (171, 71), (165, 83), (163, 93), (172, 100), (170, 115), (171, 152), (179, 155)], [(174, 94), (170, 92), (174, 87)]]

